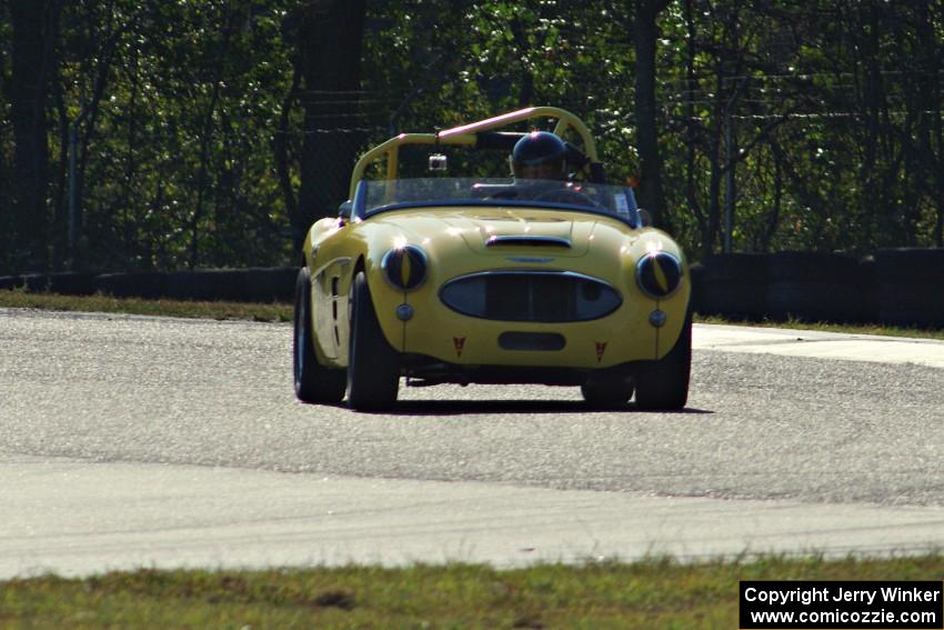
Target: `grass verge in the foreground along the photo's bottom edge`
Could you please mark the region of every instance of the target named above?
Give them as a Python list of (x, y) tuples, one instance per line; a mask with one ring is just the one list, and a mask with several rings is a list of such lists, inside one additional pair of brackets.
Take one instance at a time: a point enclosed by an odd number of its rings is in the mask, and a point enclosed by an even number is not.
[(941, 580), (944, 557), (495, 570), (155, 571), (0, 582), (0, 627), (736, 628), (739, 580)]

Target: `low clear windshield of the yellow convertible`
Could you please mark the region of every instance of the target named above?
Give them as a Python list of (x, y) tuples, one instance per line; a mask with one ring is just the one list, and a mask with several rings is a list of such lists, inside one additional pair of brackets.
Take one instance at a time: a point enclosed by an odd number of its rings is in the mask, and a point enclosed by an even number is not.
[(559, 180), (418, 178), (361, 180), (353, 213), (371, 214), (432, 206), (526, 206), (609, 214), (640, 227), (632, 188)]

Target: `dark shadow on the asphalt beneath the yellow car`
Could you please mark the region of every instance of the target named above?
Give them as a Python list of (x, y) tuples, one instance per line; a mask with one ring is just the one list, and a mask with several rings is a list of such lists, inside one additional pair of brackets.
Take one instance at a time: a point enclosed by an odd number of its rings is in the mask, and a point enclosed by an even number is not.
[(400, 400), (382, 416), (463, 416), (484, 413), (518, 414), (588, 414), (588, 413), (640, 413), (640, 414), (711, 414), (714, 411), (685, 408), (677, 411), (642, 411), (635, 402), (609, 408), (589, 407), (581, 400)]

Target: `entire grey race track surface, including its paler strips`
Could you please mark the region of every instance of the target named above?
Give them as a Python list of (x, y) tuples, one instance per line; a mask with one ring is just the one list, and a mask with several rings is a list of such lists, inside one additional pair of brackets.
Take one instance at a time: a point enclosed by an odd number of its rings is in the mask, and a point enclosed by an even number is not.
[(0, 578), (944, 548), (944, 342), (696, 327), (689, 408), (291, 392), (291, 328), (0, 309)]

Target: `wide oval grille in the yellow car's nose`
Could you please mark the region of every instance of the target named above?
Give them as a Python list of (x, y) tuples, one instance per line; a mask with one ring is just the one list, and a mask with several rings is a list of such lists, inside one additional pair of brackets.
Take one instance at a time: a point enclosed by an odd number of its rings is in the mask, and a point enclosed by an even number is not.
[(606, 282), (570, 271), (485, 271), (450, 280), (445, 306), (501, 321), (565, 322), (599, 319), (623, 302)]

